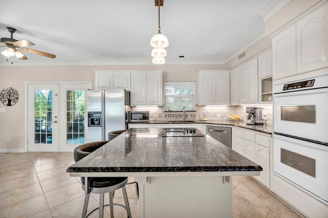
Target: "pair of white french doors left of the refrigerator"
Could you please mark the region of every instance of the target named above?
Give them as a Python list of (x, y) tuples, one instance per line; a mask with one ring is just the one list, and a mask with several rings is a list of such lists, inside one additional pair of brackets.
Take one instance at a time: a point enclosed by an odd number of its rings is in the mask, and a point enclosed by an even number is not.
[(28, 152), (71, 152), (85, 142), (92, 83), (28, 84)]

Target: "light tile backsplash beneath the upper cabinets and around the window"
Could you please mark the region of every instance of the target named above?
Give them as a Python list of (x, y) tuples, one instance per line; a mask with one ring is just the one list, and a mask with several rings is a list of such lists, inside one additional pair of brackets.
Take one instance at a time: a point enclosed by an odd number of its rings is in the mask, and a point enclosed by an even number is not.
[[(201, 120), (207, 117), (209, 121), (229, 121), (230, 115), (239, 115), (242, 122), (247, 122), (246, 107), (262, 107), (262, 114), (267, 119), (267, 124), (272, 126), (272, 104), (248, 106), (196, 106), (196, 111), (187, 111), (186, 120)], [(164, 112), (164, 107), (132, 107), (132, 110), (149, 111), (150, 121), (182, 120), (182, 112)]]

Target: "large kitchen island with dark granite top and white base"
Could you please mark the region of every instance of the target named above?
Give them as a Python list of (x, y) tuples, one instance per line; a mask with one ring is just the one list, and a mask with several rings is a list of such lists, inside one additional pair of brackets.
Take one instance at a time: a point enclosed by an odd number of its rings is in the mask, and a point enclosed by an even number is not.
[(67, 169), (137, 177), (140, 217), (232, 217), (231, 177), (260, 171), (208, 135), (173, 137), (162, 128), (129, 129)]

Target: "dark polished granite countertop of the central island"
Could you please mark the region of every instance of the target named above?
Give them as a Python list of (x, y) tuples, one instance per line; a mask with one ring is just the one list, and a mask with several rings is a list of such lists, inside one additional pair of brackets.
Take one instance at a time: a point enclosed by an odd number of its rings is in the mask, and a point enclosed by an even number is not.
[(69, 173), (241, 172), (261, 166), (206, 135), (161, 137), (161, 128), (132, 128), (76, 162)]

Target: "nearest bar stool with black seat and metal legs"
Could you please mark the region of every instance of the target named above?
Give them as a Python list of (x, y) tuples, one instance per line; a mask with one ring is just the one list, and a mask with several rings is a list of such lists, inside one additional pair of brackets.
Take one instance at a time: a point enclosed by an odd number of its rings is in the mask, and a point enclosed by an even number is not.
[[(81, 144), (74, 149), (74, 161), (77, 162), (91, 152), (100, 148), (108, 141), (96, 141)], [(85, 188), (85, 178), (87, 178), (88, 187)], [(120, 206), (126, 209), (128, 217), (132, 218), (129, 200), (127, 196), (127, 190), (125, 185), (128, 183), (128, 177), (81, 177), (82, 188), (86, 191), (86, 197), (83, 206), (82, 218), (88, 217), (92, 212), (99, 208), (99, 218), (104, 217), (104, 207), (110, 206), (111, 218), (114, 217), (113, 206)], [(113, 204), (113, 192), (122, 189), (125, 206), (121, 204)], [(109, 192), (109, 204), (104, 205), (104, 194)], [(88, 203), (90, 193), (98, 193), (99, 195), (99, 207), (95, 208), (87, 215)]]

